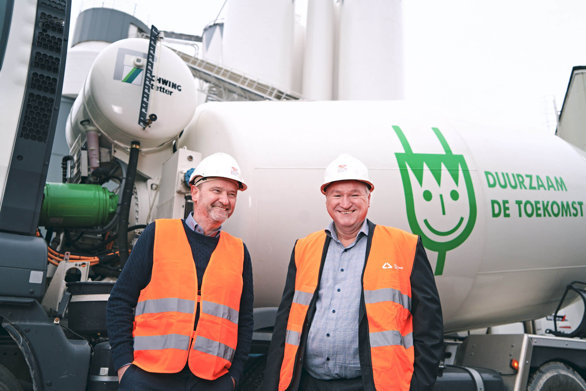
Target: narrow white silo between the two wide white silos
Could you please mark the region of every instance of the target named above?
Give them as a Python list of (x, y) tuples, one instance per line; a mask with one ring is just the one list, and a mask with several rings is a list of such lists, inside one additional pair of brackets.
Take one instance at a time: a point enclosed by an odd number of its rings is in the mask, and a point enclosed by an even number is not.
[(309, 0), (302, 95), (332, 99), (334, 14), (332, 0)]

